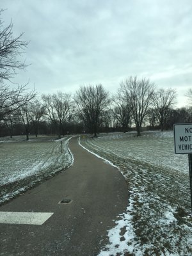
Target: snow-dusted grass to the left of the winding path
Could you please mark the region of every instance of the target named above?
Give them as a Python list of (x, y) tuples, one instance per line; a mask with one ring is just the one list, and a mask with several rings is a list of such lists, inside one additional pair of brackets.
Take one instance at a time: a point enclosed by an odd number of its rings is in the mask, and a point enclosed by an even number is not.
[(29, 141), (1, 138), (0, 204), (67, 169), (72, 163), (68, 140), (63, 138), (61, 146), (61, 140), (48, 136)]

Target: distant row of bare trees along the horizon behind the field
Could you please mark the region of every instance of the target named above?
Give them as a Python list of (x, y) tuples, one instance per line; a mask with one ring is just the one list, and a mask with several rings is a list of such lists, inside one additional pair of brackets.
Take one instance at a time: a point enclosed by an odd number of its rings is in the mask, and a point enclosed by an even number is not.
[[(11, 91), (10, 91), (11, 92)], [(12, 93), (11, 93), (12, 94)], [(141, 135), (141, 127), (172, 129), (175, 123), (192, 122), (192, 107), (174, 109), (173, 89), (155, 90), (148, 79), (129, 77), (111, 96), (102, 84), (81, 86), (74, 95), (57, 92), (24, 99), (1, 108), (1, 136), (127, 132)], [(11, 95), (10, 95), (11, 97)], [(14, 96), (15, 97), (15, 96)]]

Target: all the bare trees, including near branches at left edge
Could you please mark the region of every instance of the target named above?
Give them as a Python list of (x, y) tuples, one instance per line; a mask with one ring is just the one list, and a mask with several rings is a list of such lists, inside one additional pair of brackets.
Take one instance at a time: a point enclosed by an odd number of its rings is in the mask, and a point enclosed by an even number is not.
[[(3, 11), (0, 11), (0, 15)], [(0, 16), (1, 17), (1, 16)], [(130, 131), (141, 127), (171, 129), (178, 122), (192, 122), (192, 90), (188, 90), (189, 104), (174, 109), (177, 93), (173, 89), (158, 89), (149, 79), (128, 77), (115, 95), (102, 84), (81, 86), (74, 95), (57, 92), (37, 97), (28, 83), (10, 88), (6, 84), (27, 67), (20, 60), (28, 42), (12, 33), (12, 22), (6, 28), (0, 19), (0, 136), (29, 133), (58, 134)]]

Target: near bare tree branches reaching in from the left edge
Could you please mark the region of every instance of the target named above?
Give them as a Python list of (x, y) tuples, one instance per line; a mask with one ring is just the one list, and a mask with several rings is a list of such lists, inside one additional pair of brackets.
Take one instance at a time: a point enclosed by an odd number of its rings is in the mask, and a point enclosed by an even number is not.
[(6, 27), (3, 26), (2, 12), (3, 10), (0, 10), (0, 120), (20, 106), (24, 106), (36, 94), (35, 89), (28, 92), (28, 83), (14, 89), (3, 84), (4, 80), (10, 81), (17, 74), (17, 70), (26, 68), (27, 65), (25, 61), (21, 61), (20, 56), (24, 53), (28, 42), (22, 40), (23, 33), (13, 36), (12, 22)]

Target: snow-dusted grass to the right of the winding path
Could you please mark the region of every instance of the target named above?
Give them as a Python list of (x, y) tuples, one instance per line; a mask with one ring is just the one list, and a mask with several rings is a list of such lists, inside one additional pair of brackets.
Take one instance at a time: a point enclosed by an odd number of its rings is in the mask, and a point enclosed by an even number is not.
[(119, 168), (130, 194), (99, 256), (191, 255), (188, 156), (175, 155), (173, 132), (106, 134), (81, 144)]

